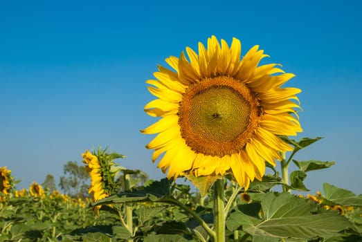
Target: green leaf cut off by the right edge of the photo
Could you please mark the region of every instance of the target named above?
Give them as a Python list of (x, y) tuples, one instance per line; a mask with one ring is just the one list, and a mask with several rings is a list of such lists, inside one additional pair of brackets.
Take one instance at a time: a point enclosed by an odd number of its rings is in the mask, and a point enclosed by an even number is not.
[(335, 187), (329, 183), (323, 184), (325, 196), (323, 198), (339, 205), (362, 206), (362, 195), (357, 196), (353, 192)]

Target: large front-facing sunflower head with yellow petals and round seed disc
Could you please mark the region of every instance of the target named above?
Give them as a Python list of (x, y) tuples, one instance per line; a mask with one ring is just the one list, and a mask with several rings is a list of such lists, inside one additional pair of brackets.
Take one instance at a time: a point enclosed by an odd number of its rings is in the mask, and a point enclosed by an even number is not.
[(163, 154), (158, 167), (168, 169), (168, 178), (231, 173), (247, 189), (262, 179), (265, 160), (275, 165), (292, 150), (279, 136), (302, 131), (295, 110), (300, 89), (282, 87), (294, 75), (278, 64), (259, 66), (268, 56), (259, 46), (240, 59), (235, 38), (229, 47), (212, 36), (207, 49), (199, 43), (198, 54), (188, 47), (186, 53), (165, 59), (173, 70), (159, 66), (156, 80), (147, 80), (158, 99), (145, 112), (161, 117), (141, 131), (158, 133), (146, 146), (154, 149), (152, 161)]

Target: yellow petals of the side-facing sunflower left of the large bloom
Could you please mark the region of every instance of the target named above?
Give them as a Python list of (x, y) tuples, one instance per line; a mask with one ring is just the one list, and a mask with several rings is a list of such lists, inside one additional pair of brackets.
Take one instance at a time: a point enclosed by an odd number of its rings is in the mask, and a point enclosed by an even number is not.
[[(86, 169), (89, 176), (91, 176), (91, 187), (88, 189), (88, 193), (93, 197), (93, 201), (96, 202), (102, 198), (109, 196), (109, 193), (103, 189), (102, 186), (102, 171), (98, 157), (89, 151), (82, 153), (83, 163), (86, 164)], [(98, 216), (100, 205), (94, 207), (94, 213)]]

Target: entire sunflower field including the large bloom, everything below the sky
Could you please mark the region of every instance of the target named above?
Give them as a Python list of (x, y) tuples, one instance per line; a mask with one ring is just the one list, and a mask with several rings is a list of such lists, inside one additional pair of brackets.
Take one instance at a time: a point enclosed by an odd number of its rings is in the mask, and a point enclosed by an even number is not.
[(289, 138), (302, 132), (300, 89), (284, 87), (293, 74), (260, 65), (259, 46), (242, 57), (235, 38), (186, 53), (147, 80), (156, 122), (141, 132), (167, 177), (143, 179), (101, 148), (82, 153), (84, 196), (17, 190), (0, 167), (0, 241), (362, 241), (361, 195), (329, 183), (300, 195), (309, 171), (334, 162), (293, 158), (320, 140)]

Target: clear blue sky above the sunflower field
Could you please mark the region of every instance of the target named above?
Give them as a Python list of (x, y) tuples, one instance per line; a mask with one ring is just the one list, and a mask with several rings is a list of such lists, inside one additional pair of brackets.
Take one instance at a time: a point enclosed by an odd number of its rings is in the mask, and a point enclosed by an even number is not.
[[(362, 1), (5, 1), (0, 0), (0, 167), (17, 188), (56, 183), (69, 160), (109, 147), (118, 164), (162, 178), (139, 132), (155, 120), (145, 81), (157, 64), (216, 35), (259, 44), (296, 74), (302, 89), (298, 136), (322, 136), (297, 160), (335, 160), (311, 171), (323, 182), (362, 193)], [(294, 167), (291, 167), (293, 169)], [(179, 180), (182, 182), (182, 180)]]

